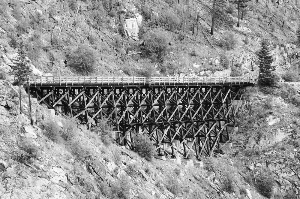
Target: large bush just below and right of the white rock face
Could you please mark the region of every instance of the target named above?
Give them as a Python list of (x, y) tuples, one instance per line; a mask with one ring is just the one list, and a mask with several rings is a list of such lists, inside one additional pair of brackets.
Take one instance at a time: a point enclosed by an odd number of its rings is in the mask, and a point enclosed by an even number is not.
[(167, 37), (163, 32), (156, 32), (145, 38), (144, 56), (152, 60), (152, 62), (163, 62), (163, 56), (167, 53), (168, 43)]

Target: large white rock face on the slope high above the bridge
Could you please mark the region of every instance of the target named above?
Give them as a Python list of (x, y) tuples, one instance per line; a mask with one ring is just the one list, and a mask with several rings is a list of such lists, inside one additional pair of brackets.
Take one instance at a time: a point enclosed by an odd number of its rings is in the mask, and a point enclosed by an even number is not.
[(134, 14), (134, 18), (126, 19), (123, 25), (125, 35), (128, 38), (139, 40), (139, 26), (143, 23), (142, 16), (138, 13)]

